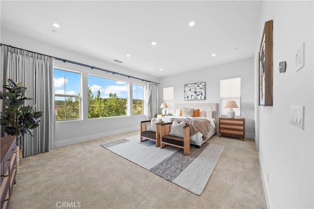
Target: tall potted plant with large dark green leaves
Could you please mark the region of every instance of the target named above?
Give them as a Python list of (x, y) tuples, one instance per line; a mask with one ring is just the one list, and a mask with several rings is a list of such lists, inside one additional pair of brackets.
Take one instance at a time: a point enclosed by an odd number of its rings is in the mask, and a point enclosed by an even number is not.
[[(13, 79), (8, 79), (9, 85), (2, 87), (7, 90), (0, 92), (1, 99), (4, 100), (6, 109), (1, 112), (1, 126), (4, 132), (11, 136), (17, 136), (17, 143), (24, 134), (32, 136), (32, 129), (39, 126), (40, 118), (43, 112), (37, 112), (36, 105), (24, 106), (24, 101), (31, 98), (24, 96), (26, 87), (22, 83), (17, 83)], [(22, 148), (21, 148), (22, 149)]]

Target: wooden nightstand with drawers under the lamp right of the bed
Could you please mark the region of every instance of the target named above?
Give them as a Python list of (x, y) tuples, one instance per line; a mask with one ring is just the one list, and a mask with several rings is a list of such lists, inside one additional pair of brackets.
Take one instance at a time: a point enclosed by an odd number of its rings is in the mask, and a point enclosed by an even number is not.
[(243, 117), (219, 117), (219, 137), (222, 135), (239, 137), (244, 141), (245, 118)]

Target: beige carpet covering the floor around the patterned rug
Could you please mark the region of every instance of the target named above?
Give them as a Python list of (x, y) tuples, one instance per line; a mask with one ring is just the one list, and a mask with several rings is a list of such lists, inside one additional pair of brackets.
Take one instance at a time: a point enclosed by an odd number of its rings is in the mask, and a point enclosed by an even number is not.
[[(138, 131), (95, 139), (23, 158), (9, 209), (262, 209), (259, 153), (252, 139), (213, 136), (225, 146), (202, 194), (195, 195), (100, 144)], [(58, 205), (59, 206), (59, 205)]]

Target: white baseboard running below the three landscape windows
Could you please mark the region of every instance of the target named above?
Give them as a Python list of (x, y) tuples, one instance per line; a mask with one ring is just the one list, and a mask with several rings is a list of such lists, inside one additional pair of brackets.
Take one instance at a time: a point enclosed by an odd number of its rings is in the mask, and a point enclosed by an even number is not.
[(136, 130), (139, 130), (138, 127), (121, 129), (121, 130), (117, 130), (117, 131), (110, 131), (110, 132), (105, 132), (105, 133), (101, 133), (101, 134), (89, 135), (89, 136), (85, 136), (85, 137), (66, 139), (66, 140), (62, 140), (62, 141), (55, 141), (54, 142), (54, 148), (67, 146), (67, 145), (71, 145), (71, 144), (76, 144), (76, 143), (80, 143), (80, 142), (84, 142), (84, 141), (99, 139), (99, 138), (103, 138), (103, 137), (108, 137), (108, 136), (112, 136), (112, 135), (116, 135), (116, 134), (123, 134), (123, 133), (136, 131)]

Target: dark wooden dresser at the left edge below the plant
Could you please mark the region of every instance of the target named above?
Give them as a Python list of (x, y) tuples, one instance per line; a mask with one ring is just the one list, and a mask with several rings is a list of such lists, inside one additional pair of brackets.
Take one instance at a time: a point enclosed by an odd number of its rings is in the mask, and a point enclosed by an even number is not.
[(16, 136), (1, 137), (1, 209), (9, 207), (16, 176)]

